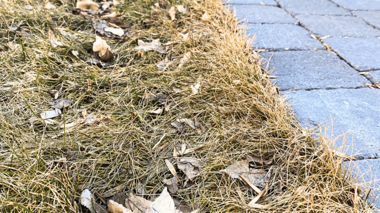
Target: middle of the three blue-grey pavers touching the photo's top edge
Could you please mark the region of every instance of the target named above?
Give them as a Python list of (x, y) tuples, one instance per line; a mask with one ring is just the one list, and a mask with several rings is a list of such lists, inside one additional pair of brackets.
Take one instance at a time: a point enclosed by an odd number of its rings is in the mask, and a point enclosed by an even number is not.
[(278, 0), (281, 7), (291, 14), (351, 15), (328, 0)]

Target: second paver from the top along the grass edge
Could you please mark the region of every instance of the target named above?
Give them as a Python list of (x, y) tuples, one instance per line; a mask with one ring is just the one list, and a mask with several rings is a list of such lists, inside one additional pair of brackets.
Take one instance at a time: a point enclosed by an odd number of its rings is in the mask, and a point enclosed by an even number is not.
[(280, 7), (263, 5), (231, 5), (238, 19), (245, 19), (248, 23), (278, 23), (297, 24), (297, 20), (291, 17)]

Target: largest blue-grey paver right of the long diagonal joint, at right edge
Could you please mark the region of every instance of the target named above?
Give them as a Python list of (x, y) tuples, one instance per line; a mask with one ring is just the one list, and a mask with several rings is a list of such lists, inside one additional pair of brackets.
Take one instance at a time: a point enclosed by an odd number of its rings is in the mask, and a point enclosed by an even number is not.
[(380, 70), (379, 38), (330, 37), (323, 41), (355, 70)]

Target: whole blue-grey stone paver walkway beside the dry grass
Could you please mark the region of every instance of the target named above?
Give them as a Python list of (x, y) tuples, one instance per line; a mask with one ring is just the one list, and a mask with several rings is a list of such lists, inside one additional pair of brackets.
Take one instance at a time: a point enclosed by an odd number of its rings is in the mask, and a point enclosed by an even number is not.
[[(248, 23), (248, 34), (257, 36), (253, 47), (267, 50), (260, 55), (270, 59), (271, 75), (278, 76), (273, 81), (300, 124), (331, 125), (333, 118), (333, 138), (348, 132), (347, 153), (360, 159), (351, 163), (353, 172), (380, 179), (380, 89), (368, 87), (380, 86), (380, 0), (229, 3)], [(380, 180), (371, 186), (379, 188)], [(380, 208), (379, 198), (373, 202)]]

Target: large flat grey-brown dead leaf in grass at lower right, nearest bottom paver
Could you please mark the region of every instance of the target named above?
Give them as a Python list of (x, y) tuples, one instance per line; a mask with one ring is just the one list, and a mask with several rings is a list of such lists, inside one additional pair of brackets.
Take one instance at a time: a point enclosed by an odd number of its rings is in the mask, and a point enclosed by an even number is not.
[(266, 172), (263, 169), (249, 169), (249, 164), (246, 160), (238, 161), (220, 172), (229, 174), (231, 178), (243, 180), (240, 177), (241, 175), (255, 186), (265, 187), (264, 178)]

